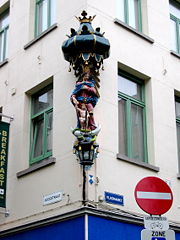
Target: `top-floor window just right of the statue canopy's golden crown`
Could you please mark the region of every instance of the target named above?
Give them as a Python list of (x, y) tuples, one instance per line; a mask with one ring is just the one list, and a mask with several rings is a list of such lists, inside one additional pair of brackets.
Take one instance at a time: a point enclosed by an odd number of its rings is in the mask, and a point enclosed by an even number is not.
[(142, 32), (141, 0), (117, 0), (117, 18)]

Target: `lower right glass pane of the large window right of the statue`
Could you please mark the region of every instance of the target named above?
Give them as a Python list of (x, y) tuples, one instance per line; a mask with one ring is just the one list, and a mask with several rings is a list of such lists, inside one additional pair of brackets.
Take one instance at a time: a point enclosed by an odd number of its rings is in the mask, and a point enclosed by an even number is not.
[(132, 117), (132, 157), (142, 161), (144, 159), (143, 137), (143, 109), (135, 104), (131, 105)]

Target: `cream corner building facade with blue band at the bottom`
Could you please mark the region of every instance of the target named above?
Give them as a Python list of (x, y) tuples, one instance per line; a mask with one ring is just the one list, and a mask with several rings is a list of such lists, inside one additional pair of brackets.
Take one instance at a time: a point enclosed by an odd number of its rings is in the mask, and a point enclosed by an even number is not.
[[(86, 169), (86, 201), (72, 152), (77, 79), (61, 50), (83, 10), (96, 15), (92, 26), (111, 45), (99, 76), (100, 153)], [(171, 187), (165, 216), (180, 239), (179, 26), (178, 0), (0, 0), (0, 111), (10, 123), (1, 239), (140, 239), (147, 214), (134, 189), (147, 176)]]

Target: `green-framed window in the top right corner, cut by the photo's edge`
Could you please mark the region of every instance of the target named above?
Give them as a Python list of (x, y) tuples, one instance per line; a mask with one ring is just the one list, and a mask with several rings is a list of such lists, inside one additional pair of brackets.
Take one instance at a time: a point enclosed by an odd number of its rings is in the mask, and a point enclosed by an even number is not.
[(170, 1), (171, 49), (180, 54), (180, 3)]

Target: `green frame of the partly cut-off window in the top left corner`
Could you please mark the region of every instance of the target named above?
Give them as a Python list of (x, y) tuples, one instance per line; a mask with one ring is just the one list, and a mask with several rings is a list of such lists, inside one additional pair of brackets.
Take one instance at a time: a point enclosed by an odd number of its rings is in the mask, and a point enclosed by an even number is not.
[[(6, 14), (9, 17), (9, 8), (0, 14), (0, 19), (2, 19)], [(1, 52), (0, 52), (0, 63), (4, 62), (7, 59), (7, 32), (9, 29), (9, 24), (7, 24), (4, 28), (0, 29), (0, 35), (4, 33), (3, 36), (3, 49), (2, 49), (2, 60), (1, 60)]]

